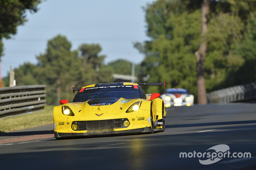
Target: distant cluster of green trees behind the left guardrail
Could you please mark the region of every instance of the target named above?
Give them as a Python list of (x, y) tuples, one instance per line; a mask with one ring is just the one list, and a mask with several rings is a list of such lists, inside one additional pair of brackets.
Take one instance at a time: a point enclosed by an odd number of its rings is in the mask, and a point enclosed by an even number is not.
[[(81, 53), (86, 47), (88, 59)], [(108, 83), (112, 80), (112, 72), (103, 64), (105, 55), (99, 55), (99, 44), (82, 44), (71, 51), (71, 42), (65, 36), (57, 35), (47, 43), (45, 53), (38, 55), (36, 65), (24, 63), (15, 69), (16, 84), (47, 85), (47, 102), (58, 104), (61, 99), (73, 99), (72, 87), (83, 87), (95, 83)], [(95, 62), (97, 60), (97, 62)], [(95, 67), (97, 63), (97, 68)]]

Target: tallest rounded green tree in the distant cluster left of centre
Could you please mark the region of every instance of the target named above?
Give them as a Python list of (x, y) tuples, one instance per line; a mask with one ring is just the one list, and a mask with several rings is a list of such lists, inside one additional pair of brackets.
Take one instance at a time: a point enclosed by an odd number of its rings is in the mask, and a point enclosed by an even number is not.
[[(61, 89), (74, 83), (70, 72), (74, 69), (77, 52), (70, 49), (71, 42), (65, 36), (57, 35), (48, 41), (46, 52), (36, 57), (40, 67), (38, 76), (45, 79), (52, 89), (56, 89), (56, 103), (61, 99)], [(52, 92), (48, 95), (51, 96)]]

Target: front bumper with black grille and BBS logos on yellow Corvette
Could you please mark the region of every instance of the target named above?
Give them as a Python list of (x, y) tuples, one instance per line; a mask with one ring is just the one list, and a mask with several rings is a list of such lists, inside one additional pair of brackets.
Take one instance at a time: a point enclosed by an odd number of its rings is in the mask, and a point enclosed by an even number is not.
[[(72, 122), (56, 121), (54, 122), (54, 137), (60, 138), (151, 132), (152, 129), (148, 119), (143, 117), (143, 120), (139, 121), (135, 119), (129, 121), (127, 118)], [(129, 122), (129, 125), (125, 126), (125, 122)]]

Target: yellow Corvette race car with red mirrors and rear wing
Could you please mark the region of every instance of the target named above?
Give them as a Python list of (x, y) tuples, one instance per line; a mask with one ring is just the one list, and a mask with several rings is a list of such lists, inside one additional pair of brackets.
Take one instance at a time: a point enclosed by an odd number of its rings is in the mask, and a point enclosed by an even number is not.
[(72, 103), (61, 100), (53, 110), (54, 137), (164, 131), (165, 107), (159, 93), (145, 94), (140, 85), (107, 83), (72, 88)]

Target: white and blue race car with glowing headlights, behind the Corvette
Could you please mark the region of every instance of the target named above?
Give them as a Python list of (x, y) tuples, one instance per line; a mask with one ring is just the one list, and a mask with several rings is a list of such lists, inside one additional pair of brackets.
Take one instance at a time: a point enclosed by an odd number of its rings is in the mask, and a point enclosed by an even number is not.
[(186, 89), (171, 88), (167, 89), (164, 94), (161, 95), (164, 100), (164, 106), (192, 106), (194, 104), (194, 95), (188, 94)]

